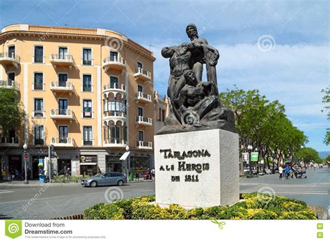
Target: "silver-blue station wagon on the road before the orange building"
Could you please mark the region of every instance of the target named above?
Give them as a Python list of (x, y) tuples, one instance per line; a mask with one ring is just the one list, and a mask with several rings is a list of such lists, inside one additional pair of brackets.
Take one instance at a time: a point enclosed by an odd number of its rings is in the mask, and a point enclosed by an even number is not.
[(123, 186), (125, 183), (127, 183), (126, 175), (119, 172), (102, 172), (94, 177), (81, 179), (81, 185), (91, 187), (107, 185)]

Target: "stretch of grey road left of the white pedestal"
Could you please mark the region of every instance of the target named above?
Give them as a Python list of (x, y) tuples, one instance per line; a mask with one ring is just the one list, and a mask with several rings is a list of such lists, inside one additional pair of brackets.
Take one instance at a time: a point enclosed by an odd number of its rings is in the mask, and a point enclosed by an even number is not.
[[(87, 207), (107, 202), (106, 197), (111, 200), (112, 195), (119, 194), (118, 186), (49, 186), (45, 191), (40, 189), (38, 186), (0, 186), (0, 219), (50, 219), (83, 213)], [(128, 184), (120, 189), (124, 198), (150, 195), (155, 194), (155, 182)], [(31, 202), (34, 198), (37, 199)]]

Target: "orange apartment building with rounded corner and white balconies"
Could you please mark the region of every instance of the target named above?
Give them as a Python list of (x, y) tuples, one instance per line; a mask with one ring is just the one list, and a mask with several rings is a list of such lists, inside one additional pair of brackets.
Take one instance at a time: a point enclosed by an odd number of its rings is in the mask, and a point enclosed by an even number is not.
[[(13, 24), (0, 34), (0, 84), (13, 88), (28, 122), (1, 137), (5, 170), (38, 177), (54, 145), (58, 175), (143, 172), (153, 166), (155, 132), (152, 52), (107, 29)], [(159, 120), (158, 120), (159, 121)], [(129, 162), (119, 160), (126, 147)]]

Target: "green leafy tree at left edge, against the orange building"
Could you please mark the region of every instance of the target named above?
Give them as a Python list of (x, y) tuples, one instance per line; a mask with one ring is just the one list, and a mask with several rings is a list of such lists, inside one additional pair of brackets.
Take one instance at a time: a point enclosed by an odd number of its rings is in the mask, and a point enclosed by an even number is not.
[(0, 110), (1, 136), (6, 137), (10, 129), (22, 127), (25, 113), (15, 90), (0, 86)]

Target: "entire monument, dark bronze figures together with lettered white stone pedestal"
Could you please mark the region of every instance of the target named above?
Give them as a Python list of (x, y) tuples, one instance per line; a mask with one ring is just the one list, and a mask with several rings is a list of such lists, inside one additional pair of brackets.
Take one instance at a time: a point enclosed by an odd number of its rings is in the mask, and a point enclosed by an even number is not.
[(234, 204), (239, 200), (238, 135), (233, 111), (219, 102), (219, 51), (198, 38), (194, 24), (186, 32), (190, 42), (162, 49), (169, 58), (171, 102), (155, 135), (156, 202), (187, 208)]

